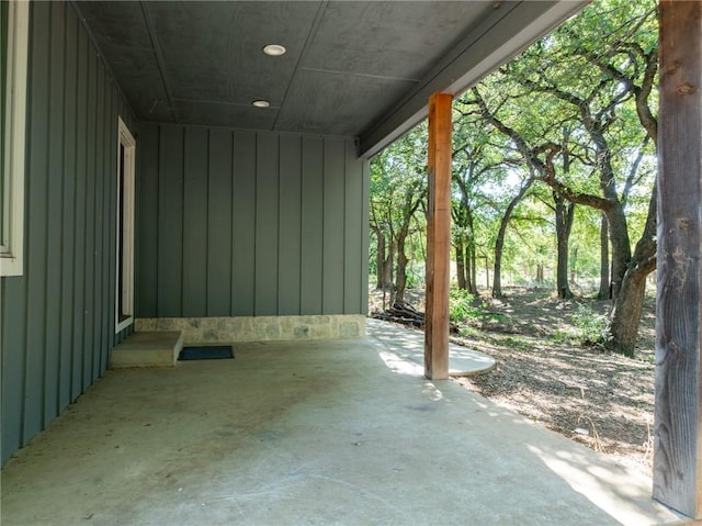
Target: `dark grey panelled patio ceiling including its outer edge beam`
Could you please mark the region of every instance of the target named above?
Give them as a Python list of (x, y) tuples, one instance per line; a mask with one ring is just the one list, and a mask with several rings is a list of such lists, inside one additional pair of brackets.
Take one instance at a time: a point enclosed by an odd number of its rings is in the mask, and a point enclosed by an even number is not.
[[(73, 3), (140, 120), (355, 136), (365, 154), (426, 116), (431, 91), (465, 90), (582, 4)], [(272, 43), (287, 53), (264, 55)]]

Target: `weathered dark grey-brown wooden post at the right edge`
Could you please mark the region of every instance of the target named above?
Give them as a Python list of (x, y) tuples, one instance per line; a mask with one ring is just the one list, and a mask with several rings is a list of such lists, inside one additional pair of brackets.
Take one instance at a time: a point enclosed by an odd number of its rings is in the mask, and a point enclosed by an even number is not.
[(654, 499), (702, 517), (702, 2), (661, 0)]

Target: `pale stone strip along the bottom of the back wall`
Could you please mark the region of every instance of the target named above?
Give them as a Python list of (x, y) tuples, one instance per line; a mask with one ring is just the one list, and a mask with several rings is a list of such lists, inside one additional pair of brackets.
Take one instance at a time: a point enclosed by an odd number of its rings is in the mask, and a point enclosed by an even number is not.
[(145, 317), (136, 320), (135, 329), (182, 331), (185, 344), (348, 339), (365, 336), (365, 316)]

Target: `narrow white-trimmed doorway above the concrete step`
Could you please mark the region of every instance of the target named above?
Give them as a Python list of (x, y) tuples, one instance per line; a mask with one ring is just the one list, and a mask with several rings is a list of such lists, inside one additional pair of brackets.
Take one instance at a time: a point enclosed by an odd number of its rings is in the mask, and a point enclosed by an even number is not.
[[(120, 154), (120, 147), (124, 146), (124, 190), (120, 191), (120, 172), (122, 155)], [(123, 221), (123, 243), (120, 244), (120, 233), (116, 235), (116, 272), (115, 272), (115, 334), (124, 331), (126, 327), (134, 323), (134, 205), (135, 205), (135, 165), (136, 165), (136, 141), (129, 128), (124, 123), (122, 117), (118, 117), (118, 133), (117, 133), (117, 228), (120, 227), (120, 214), (124, 213)], [(125, 206), (122, 208), (121, 195), (124, 193)], [(122, 250), (124, 248), (124, 253)], [(120, 258), (122, 258), (122, 290), (120, 290)], [(120, 298), (122, 298), (122, 305), (124, 314), (128, 314), (123, 321), (120, 321)]]

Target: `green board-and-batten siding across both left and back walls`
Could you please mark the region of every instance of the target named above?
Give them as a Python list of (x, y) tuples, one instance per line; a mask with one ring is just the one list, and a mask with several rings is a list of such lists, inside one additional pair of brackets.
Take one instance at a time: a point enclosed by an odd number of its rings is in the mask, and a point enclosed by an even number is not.
[[(2, 463), (92, 384), (114, 334), (117, 116), (66, 2), (31, 7), (24, 273), (0, 280)], [(353, 138), (140, 123), (136, 315), (363, 314)]]

